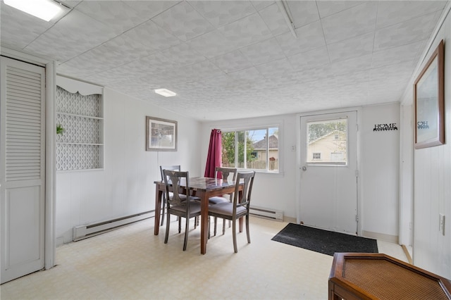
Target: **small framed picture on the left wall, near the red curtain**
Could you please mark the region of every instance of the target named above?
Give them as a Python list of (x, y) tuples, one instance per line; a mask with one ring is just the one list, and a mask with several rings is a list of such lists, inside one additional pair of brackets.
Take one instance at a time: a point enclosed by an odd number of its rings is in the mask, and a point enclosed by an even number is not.
[(146, 116), (146, 151), (177, 151), (177, 121)]

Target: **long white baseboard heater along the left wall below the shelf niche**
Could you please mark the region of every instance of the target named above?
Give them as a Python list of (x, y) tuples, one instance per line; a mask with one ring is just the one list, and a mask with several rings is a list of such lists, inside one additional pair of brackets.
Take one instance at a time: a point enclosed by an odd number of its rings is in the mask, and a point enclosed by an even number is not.
[(114, 230), (123, 225), (134, 223), (147, 218), (152, 218), (154, 216), (155, 211), (144, 211), (143, 213), (136, 213), (135, 215), (128, 215), (113, 220), (75, 226), (73, 227), (73, 241), (77, 242), (80, 239), (87, 239), (88, 237), (93, 237), (94, 235), (100, 235), (101, 233)]

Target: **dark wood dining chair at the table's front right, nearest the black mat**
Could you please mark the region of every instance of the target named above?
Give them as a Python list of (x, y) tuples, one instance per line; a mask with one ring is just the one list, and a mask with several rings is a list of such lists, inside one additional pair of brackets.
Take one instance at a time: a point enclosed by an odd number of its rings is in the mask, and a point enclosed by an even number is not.
[[(209, 215), (232, 221), (233, 250), (237, 249), (237, 223), (236, 220), (246, 217), (247, 242), (251, 242), (249, 235), (249, 204), (251, 201), (252, 185), (254, 185), (255, 171), (237, 173), (233, 202), (222, 202), (209, 206)], [(243, 185), (240, 192), (240, 185)]]

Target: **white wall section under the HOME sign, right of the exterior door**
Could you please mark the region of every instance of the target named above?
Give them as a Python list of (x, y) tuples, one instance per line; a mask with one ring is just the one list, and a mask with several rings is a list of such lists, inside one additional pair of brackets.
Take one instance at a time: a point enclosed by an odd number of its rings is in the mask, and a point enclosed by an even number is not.
[[(363, 235), (397, 243), (400, 104), (365, 106), (361, 120)], [(392, 123), (398, 130), (373, 131), (375, 125)]]

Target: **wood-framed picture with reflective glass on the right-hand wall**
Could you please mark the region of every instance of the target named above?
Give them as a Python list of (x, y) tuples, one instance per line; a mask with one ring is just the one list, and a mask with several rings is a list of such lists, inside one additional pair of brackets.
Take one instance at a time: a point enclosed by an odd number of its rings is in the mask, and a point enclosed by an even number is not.
[(445, 144), (444, 56), (442, 40), (414, 83), (415, 149)]

